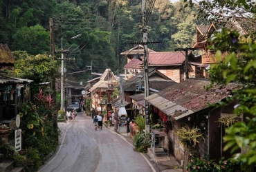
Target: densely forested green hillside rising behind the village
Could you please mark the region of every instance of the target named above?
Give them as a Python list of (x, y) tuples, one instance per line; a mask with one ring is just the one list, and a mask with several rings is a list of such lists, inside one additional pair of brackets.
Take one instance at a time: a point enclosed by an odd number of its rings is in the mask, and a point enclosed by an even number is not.
[[(0, 0), (0, 41), (11, 51), (28, 54), (50, 53), (49, 18), (53, 17), (56, 50), (69, 49), (65, 57), (67, 72), (86, 70), (93, 61), (93, 72), (110, 67), (122, 69), (126, 58), (120, 53), (142, 40), (141, 0)], [(148, 21), (149, 45), (152, 50), (172, 51), (191, 47), (196, 41), (196, 8), (182, 8), (183, 0), (170, 3), (156, 0)], [(182, 10), (180, 10), (182, 8)], [(75, 39), (71, 37), (82, 34)], [(60, 54), (55, 54), (57, 59)], [(77, 74), (87, 80), (90, 72)]]

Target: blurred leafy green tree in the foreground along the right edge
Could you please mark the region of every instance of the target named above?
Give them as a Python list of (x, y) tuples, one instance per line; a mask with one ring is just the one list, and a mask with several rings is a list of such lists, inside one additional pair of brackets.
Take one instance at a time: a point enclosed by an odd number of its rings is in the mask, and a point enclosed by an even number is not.
[[(214, 1), (212, 4), (214, 7), (218, 7), (216, 4), (220, 4), (220, 8), (224, 6), (220, 1)], [(255, 11), (253, 8), (248, 8), (249, 4), (245, 1), (228, 1), (226, 6), (230, 10), (240, 7), (247, 12), (253, 12), (252, 17), (245, 19), (251, 21), (254, 19)], [(223, 17), (222, 12), (219, 15)], [(246, 153), (236, 154), (234, 160), (241, 162), (244, 169), (251, 171), (252, 166), (256, 164), (256, 37), (255, 30), (245, 28), (247, 31), (242, 32), (244, 25), (240, 26), (241, 30), (222, 28), (211, 36), (210, 49), (216, 51), (215, 56), (219, 59), (219, 64), (211, 65), (210, 80), (212, 84), (225, 85), (230, 82), (241, 84), (241, 89), (234, 92), (227, 100), (238, 102), (234, 113), (238, 117), (243, 117), (241, 122), (236, 122), (226, 129), (226, 136), (223, 138), (226, 142), (224, 150), (231, 149), (232, 153), (237, 149), (248, 150)], [(228, 52), (223, 61), (221, 61), (222, 52)]]

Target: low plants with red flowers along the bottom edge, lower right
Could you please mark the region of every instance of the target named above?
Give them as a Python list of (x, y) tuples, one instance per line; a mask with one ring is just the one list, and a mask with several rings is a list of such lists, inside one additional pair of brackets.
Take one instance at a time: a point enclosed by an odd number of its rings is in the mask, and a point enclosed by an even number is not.
[(208, 156), (199, 158), (195, 155), (190, 155), (190, 160), (187, 166), (191, 172), (232, 172), (235, 170), (235, 163), (230, 159), (221, 158), (218, 163), (214, 160), (208, 160)]

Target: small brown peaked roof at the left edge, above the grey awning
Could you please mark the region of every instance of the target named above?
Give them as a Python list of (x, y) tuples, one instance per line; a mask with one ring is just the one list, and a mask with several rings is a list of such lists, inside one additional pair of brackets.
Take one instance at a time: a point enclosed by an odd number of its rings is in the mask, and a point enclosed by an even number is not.
[(8, 45), (3, 45), (0, 43), (0, 63), (6, 64), (6, 65), (14, 65), (15, 64), (15, 58), (12, 56), (12, 52), (10, 52), (10, 49)]

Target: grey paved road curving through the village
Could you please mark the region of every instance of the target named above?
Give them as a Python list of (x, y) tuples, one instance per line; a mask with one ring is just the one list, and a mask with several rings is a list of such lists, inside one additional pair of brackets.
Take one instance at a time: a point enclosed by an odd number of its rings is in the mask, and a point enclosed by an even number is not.
[(141, 153), (117, 133), (94, 130), (91, 117), (80, 112), (76, 121), (59, 123), (60, 146), (40, 172), (154, 171)]

